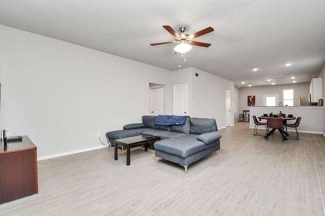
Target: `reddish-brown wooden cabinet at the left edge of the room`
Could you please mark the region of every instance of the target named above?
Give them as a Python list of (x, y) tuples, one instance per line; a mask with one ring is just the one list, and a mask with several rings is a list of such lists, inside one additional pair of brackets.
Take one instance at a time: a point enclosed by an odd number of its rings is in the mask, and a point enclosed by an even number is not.
[(1, 142), (0, 204), (38, 193), (37, 147), (27, 136)]

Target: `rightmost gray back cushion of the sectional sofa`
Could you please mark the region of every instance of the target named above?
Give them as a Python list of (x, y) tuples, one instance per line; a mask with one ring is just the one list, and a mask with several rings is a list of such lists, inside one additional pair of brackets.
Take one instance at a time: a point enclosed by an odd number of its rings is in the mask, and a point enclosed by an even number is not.
[(190, 118), (191, 134), (204, 134), (217, 131), (214, 118)]

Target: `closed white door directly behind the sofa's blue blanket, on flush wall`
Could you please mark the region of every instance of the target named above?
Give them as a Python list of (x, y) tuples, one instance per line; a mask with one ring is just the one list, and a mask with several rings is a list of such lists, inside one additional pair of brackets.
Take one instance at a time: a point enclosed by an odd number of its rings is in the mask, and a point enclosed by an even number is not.
[(174, 115), (189, 115), (188, 84), (174, 85)]

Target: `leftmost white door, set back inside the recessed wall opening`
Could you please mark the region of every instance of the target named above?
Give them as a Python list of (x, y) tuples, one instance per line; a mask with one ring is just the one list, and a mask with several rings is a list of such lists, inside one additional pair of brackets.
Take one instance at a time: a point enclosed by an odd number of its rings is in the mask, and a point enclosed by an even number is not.
[(163, 115), (165, 113), (164, 87), (150, 88), (150, 115)]

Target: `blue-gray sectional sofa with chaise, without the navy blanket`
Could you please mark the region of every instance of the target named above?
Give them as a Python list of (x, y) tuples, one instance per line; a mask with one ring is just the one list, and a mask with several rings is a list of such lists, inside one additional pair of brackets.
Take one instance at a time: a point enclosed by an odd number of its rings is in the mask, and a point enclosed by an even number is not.
[(220, 149), (221, 134), (214, 118), (186, 118), (182, 125), (157, 125), (156, 116), (142, 116), (142, 123), (123, 126), (122, 130), (106, 133), (110, 143), (116, 139), (149, 135), (160, 137), (154, 143), (156, 162), (159, 158), (178, 163), (185, 168)]

